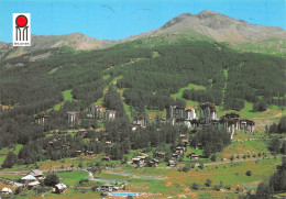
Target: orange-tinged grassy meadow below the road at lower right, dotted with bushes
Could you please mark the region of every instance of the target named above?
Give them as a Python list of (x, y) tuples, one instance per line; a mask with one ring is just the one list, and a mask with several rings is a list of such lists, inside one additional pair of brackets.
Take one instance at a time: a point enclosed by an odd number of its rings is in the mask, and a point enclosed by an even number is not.
[[(257, 184), (264, 178), (268, 177), (276, 169), (276, 165), (280, 164), (280, 158), (276, 159), (262, 159), (258, 162), (243, 162), (224, 165), (205, 166), (204, 169), (191, 168), (188, 173), (178, 172), (178, 168), (172, 169), (129, 169), (117, 170), (125, 175), (109, 174), (110, 172), (102, 172), (99, 176), (102, 178), (114, 180), (128, 180), (127, 188), (134, 192), (148, 192), (151, 198), (166, 198), (169, 196), (185, 195), (186, 197), (215, 197), (215, 196), (233, 196), (234, 189), (240, 186), (241, 188), (255, 188)], [(252, 170), (251, 176), (246, 176), (246, 170)], [(133, 178), (132, 176), (160, 176), (164, 180), (158, 179), (143, 179)], [(212, 184), (230, 185), (230, 192), (199, 190), (191, 191), (189, 188), (191, 184), (199, 184), (200, 188), (205, 188), (205, 181), (211, 179)], [(242, 194), (242, 192), (241, 192)]]

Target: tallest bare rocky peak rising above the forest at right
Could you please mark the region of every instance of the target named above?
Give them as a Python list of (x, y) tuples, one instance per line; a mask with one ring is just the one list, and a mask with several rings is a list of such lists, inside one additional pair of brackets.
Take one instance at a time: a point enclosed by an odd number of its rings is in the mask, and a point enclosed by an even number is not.
[(235, 20), (224, 14), (205, 10), (198, 14), (180, 14), (162, 27), (128, 37), (124, 41), (154, 37), (170, 34), (189, 40), (213, 40), (229, 43), (246, 52), (285, 54), (286, 31), (280, 27), (254, 25), (243, 20)]

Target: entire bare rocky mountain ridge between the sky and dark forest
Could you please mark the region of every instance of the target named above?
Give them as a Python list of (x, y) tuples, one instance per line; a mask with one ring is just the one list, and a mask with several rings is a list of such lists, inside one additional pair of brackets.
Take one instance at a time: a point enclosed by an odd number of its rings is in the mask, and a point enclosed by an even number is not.
[(38, 49), (62, 46), (69, 46), (76, 51), (101, 49), (131, 41), (140, 42), (139, 47), (212, 41), (228, 43), (231, 47), (243, 52), (285, 56), (285, 35), (286, 31), (280, 27), (254, 25), (243, 20), (205, 10), (198, 14), (180, 14), (166, 22), (162, 27), (118, 41), (92, 38), (81, 33), (32, 35), (31, 47), (12, 47), (12, 44), (0, 43), (0, 58), (11, 58)]

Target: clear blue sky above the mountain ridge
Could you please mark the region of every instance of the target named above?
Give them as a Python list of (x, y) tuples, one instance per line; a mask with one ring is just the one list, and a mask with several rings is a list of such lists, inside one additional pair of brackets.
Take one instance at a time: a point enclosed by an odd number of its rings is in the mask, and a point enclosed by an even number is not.
[(31, 33), (36, 35), (80, 32), (120, 40), (202, 10), (286, 30), (286, 0), (0, 0), (0, 41), (12, 42), (13, 13), (31, 13)]

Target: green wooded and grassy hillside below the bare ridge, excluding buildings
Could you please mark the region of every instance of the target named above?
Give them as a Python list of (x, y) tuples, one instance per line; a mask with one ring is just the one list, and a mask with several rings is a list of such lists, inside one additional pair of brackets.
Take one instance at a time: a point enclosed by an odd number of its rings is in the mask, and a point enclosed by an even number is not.
[[(123, 184), (124, 191), (142, 198), (238, 198), (253, 192), (286, 152), (285, 134), (264, 133), (265, 123), (277, 123), (286, 114), (285, 59), (185, 38), (164, 45), (139, 38), (97, 51), (62, 46), (0, 60), (0, 104), (6, 109), (0, 109), (0, 177), (15, 181), (23, 176), (9, 172), (53, 169), (68, 186), (61, 195), (67, 198), (99, 198), (96, 188), (107, 183)], [(197, 109), (206, 101), (216, 103), (218, 117), (239, 112), (260, 121), (258, 132), (237, 131), (231, 141), (223, 129), (158, 122), (170, 104)], [(260, 102), (266, 111), (253, 111)], [(116, 119), (89, 118), (90, 103), (116, 110)], [(69, 111), (79, 113), (75, 124), (68, 122)], [(37, 124), (35, 117), (42, 113), (48, 118)], [(146, 128), (131, 128), (136, 115), (148, 119)], [(170, 167), (182, 135), (186, 152)], [(201, 141), (202, 148), (197, 148)], [(136, 169), (134, 157), (142, 155), (146, 162)], [(153, 158), (160, 163), (150, 169), (147, 159)], [(4, 179), (2, 187), (8, 186)], [(15, 198), (58, 197), (51, 190), (23, 188)]]

